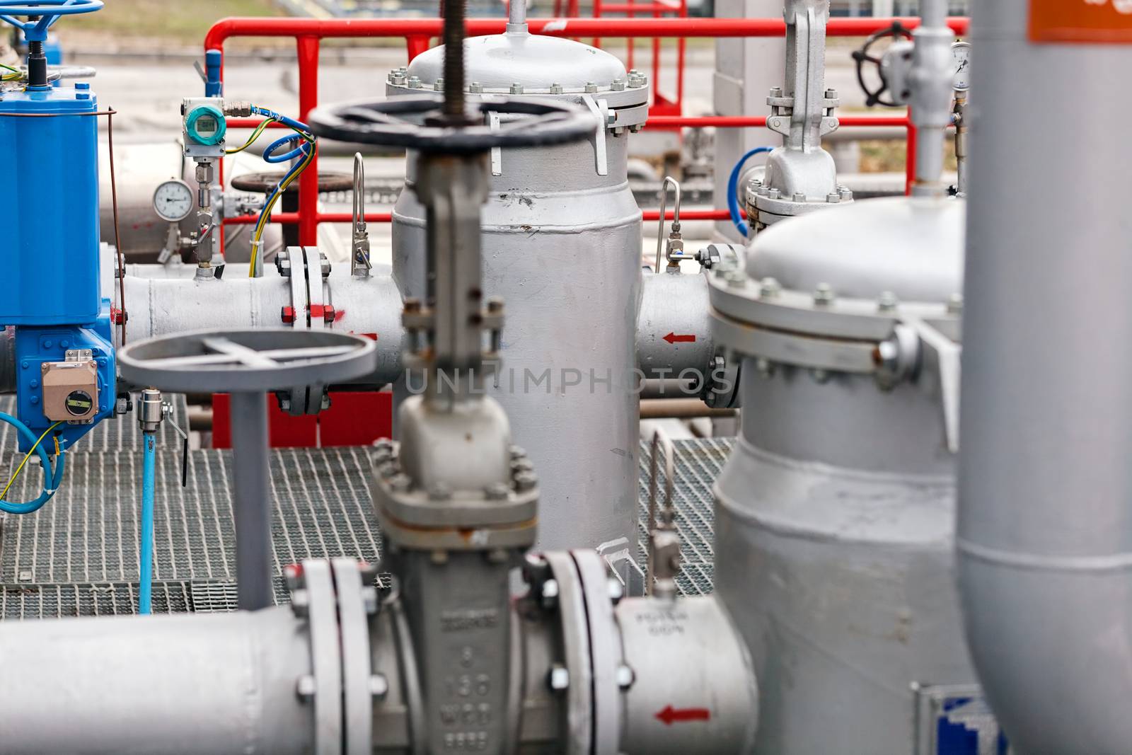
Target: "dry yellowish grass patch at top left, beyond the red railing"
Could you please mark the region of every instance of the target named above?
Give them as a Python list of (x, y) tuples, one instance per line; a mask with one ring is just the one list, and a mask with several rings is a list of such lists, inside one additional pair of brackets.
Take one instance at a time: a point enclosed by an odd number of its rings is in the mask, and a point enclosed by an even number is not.
[(199, 44), (225, 16), (282, 16), (272, 0), (106, 0), (102, 10), (67, 18), (55, 28), (66, 44), (91, 38)]

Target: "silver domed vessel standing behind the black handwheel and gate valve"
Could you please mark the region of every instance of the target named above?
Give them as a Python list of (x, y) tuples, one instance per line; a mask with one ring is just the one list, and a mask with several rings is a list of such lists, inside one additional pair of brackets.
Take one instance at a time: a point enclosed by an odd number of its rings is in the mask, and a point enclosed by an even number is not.
[[(466, 41), (469, 96), (569, 101), (595, 109), (604, 126), (577, 144), (491, 156), (483, 293), (503, 297), (507, 320), (501, 370), (488, 391), (540, 477), (539, 547), (626, 538), (635, 552), (641, 211), (628, 185), (626, 131), (644, 122), (648, 83), (600, 50), (532, 36), (525, 25), (508, 29)], [(432, 92), (443, 54), (434, 49), (394, 71), (389, 94)], [(393, 267), (405, 297), (424, 294), (424, 211), (402, 191)]]

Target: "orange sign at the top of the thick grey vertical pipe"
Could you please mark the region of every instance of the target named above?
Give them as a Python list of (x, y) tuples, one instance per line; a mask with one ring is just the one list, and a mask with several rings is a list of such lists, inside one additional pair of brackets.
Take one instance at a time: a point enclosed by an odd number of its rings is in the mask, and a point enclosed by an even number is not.
[(1132, 44), (1132, 0), (1030, 0), (1030, 41)]

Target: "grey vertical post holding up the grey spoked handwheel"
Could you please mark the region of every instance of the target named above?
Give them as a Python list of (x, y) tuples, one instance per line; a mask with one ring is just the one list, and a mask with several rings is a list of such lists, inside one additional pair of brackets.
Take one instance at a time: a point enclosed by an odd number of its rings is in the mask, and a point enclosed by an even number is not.
[(272, 590), (272, 489), (267, 401), (261, 393), (232, 394), (232, 478), (235, 578), (241, 610), (275, 603)]

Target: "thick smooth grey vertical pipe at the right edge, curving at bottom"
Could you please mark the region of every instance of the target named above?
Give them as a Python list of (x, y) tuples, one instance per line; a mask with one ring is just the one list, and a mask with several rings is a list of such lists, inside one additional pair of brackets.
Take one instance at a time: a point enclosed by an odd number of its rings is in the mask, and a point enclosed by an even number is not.
[(1018, 750), (1126, 753), (1132, 46), (1030, 42), (1043, 5), (976, 5), (959, 580)]

